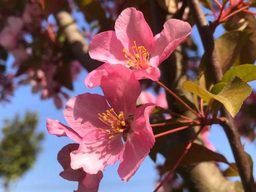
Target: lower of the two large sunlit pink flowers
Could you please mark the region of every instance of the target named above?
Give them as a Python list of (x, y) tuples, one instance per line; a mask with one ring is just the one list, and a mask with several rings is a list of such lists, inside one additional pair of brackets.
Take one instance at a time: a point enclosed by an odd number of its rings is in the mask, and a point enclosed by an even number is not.
[(141, 87), (123, 65), (111, 65), (101, 86), (105, 97), (84, 93), (67, 102), (64, 116), (71, 128), (48, 119), (48, 131), (79, 142), (70, 154), (73, 169), (96, 174), (120, 159), (119, 176), (128, 181), (155, 143), (149, 123), (155, 105), (136, 108)]

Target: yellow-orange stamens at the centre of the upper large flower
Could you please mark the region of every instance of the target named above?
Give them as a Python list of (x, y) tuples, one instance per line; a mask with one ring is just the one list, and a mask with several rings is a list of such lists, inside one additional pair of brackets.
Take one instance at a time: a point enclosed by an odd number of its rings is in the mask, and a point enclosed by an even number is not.
[(125, 48), (123, 48), (123, 52), (125, 53), (124, 62), (130, 67), (134, 67), (135, 69), (147, 69), (150, 67), (149, 64), (149, 52), (144, 46), (137, 47), (136, 41), (134, 41), (134, 46), (131, 47), (133, 53), (130, 53)]

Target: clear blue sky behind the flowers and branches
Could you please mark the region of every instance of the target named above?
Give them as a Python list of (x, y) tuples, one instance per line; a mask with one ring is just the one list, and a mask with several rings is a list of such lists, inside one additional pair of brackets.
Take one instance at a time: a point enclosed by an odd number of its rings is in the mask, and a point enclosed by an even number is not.
[[(220, 27), (215, 33), (216, 37), (222, 34), (223, 29)], [(203, 49), (200, 44), (197, 30), (193, 28), (192, 36), (196, 40), (199, 46), (199, 52), (202, 55)], [(73, 97), (77, 94), (91, 92), (101, 94), (99, 88), (87, 89), (83, 84), (83, 79), (87, 74), (86, 71), (82, 71), (77, 81), (74, 83), (74, 91), (69, 92), (69, 96)], [(253, 85), (253, 87), (256, 87)], [(47, 101), (40, 100), (39, 94), (31, 93), (31, 86), (21, 86), (15, 91), (15, 96), (12, 98), (11, 103), (6, 105), (0, 105), (0, 127), (3, 125), (4, 118), (13, 118), (15, 113), (24, 115), (26, 110), (37, 111), (39, 113), (38, 131), (45, 133), (45, 139), (43, 141), (43, 151), (38, 156), (34, 167), (28, 171), (24, 177), (11, 186), (12, 192), (73, 192), (77, 188), (77, 182), (70, 182), (62, 179), (59, 173), (62, 171), (62, 167), (57, 161), (58, 151), (68, 143), (72, 141), (68, 138), (58, 138), (54, 135), (48, 134), (46, 130), (46, 118), (58, 119), (62, 123), (66, 123), (63, 117), (63, 109), (57, 110), (54, 107), (52, 99)], [(216, 147), (218, 152), (224, 154), (230, 162), (234, 162), (232, 152), (224, 131), (219, 126), (212, 126), (210, 132), (210, 141)], [(245, 143), (246, 141), (242, 141)], [(246, 143), (245, 150), (251, 154), (252, 158), (256, 160), (256, 150), (254, 143)], [(159, 155), (159, 162), (163, 162), (163, 158)], [(221, 165), (224, 167), (224, 165)], [(101, 181), (99, 192), (151, 192), (154, 189), (155, 181), (157, 180), (157, 172), (155, 170), (155, 164), (147, 157), (141, 164), (137, 173), (127, 182), (121, 181), (117, 174), (118, 162), (113, 166), (107, 166), (104, 171), (104, 177)], [(254, 175), (256, 169), (254, 166)], [(239, 178), (232, 178), (232, 180), (238, 180)], [(0, 192), (3, 190), (0, 189)]]

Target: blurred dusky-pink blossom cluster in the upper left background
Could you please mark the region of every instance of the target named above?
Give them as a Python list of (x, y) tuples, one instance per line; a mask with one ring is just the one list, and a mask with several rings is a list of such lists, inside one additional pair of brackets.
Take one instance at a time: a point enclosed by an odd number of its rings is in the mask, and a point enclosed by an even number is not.
[(64, 63), (62, 45), (56, 41), (53, 30), (56, 27), (45, 23), (41, 5), (35, 1), (26, 4), (21, 16), (8, 17), (0, 32), (0, 46), (15, 58), (12, 65), (18, 69), (15, 76), (23, 75), (18, 84), (30, 83), (32, 93), (41, 91), (41, 99), (53, 98), (55, 106), (60, 109), (62, 98), (69, 96), (62, 91), (65, 85), (58, 79), (58, 73), (63, 72), (58, 69), (69, 65), (68, 75), (74, 80), (81, 71), (81, 65), (75, 60)]

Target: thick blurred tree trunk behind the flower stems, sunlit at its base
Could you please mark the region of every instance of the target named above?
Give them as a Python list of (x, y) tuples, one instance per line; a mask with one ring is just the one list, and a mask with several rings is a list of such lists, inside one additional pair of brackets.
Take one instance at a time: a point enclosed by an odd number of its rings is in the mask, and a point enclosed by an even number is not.
[[(163, 29), (163, 24), (167, 19), (166, 12), (158, 6), (156, 0), (151, 0), (153, 12), (153, 26), (154, 33), (157, 34)], [(182, 14), (175, 14), (175, 18), (182, 16)], [(181, 18), (178, 18), (181, 19)], [(185, 58), (183, 58), (183, 49), (181, 46), (172, 53), (172, 55), (161, 64), (161, 77), (163, 83), (179, 94), (183, 91), (182, 83), (187, 80), (186, 66), (184, 65)], [(214, 59), (214, 58), (213, 58)], [(187, 92), (184, 92), (187, 93)], [(188, 98), (191, 95), (186, 95)], [(167, 94), (167, 101), (169, 107), (176, 113), (182, 113), (180, 106), (175, 106), (175, 100)], [(188, 117), (193, 115), (187, 111), (183, 111)], [(172, 143), (184, 142), (191, 139), (194, 135), (192, 129), (186, 132), (175, 133), (171, 137)], [(201, 141), (197, 141), (201, 142)], [(202, 142), (201, 142), (202, 144)], [(240, 183), (230, 182), (226, 179), (220, 169), (214, 162), (201, 162), (189, 166), (182, 166), (177, 169), (179, 174), (183, 177), (185, 184), (190, 192), (243, 192)]]

